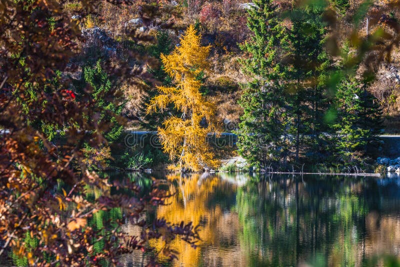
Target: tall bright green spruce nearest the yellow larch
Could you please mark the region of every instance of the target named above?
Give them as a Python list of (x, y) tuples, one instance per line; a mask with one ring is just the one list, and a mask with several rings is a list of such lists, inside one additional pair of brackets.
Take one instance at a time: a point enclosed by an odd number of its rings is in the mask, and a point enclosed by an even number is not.
[(238, 152), (251, 164), (279, 165), (287, 155), (285, 96), (279, 75), (286, 42), (284, 27), (272, 0), (255, 0), (247, 25), (252, 38), (241, 46), (249, 58), (244, 69), (254, 77), (245, 84), (240, 105), (244, 109), (237, 131)]

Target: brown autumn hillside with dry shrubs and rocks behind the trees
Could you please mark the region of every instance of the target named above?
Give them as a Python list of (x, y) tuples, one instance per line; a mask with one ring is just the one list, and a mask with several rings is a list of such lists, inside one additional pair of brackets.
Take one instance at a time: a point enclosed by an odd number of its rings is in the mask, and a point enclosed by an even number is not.
[[(292, 5), (290, 1), (274, 1), (274, 3), (281, 9)], [(336, 37), (344, 40), (344, 34), (351, 31), (354, 26), (353, 16), (359, 10), (361, 1), (344, 0), (329, 3), (337, 16), (337, 23), (330, 26), (339, 29), (338, 32), (341, 32), (343, 36), (336, 35)], [(371, 8), (378, 8), (379, 4), (379, 2), (374, 2)], [(82, 56), (123, 56), (124, 52), (134, 47), (143, 56), (158, 57), (161, 52), (170, 52), (179, 42), (182, 31), (192, 23), (201, 33), (202, 44), (211, 44), (210, 69), (206, 73), (208, 75), (204, 74), (203, 93), (216, 102), (220, 121), (238, 123), (243, 113), (243, 108), (237, 101), (241, 96), (240, 84), (248, 81), (248, 76), (243, 73), (240, 65), (240, 60), (247, 58), (248, 54), (243, 53), (240, 44), (253, 34), (247, 26), (247, 11), (252, 5), (254, 4), (240, 0), (134, 1), (133, 4), (123, 8), (103, 4), (97, 10), (97, 15), (89, 16), (81, 21), (83, 33), (86, 34), (88, 40), (85, 44), (88, 49)], [(79, 8), (79, 1), (71, 1), (68, 4), (70, 16), (73, 17), (74, 11)], [(394, 19), (396, 14), (390, 12), (387, 16)], [(171, 27), (163, 29), (167, 26)], [(366, 35), (368, 30), (372, 30), (367, 27), (367, 18), (364, 18), (358, 24), (359, 34)], [(129, 43), (119, 39), (121, 32), (133, 29), (152, 35), (156, 38), (157, 44)], [(97, 46), (93, 47), (90, 41)], [(381, 63), (378, 66), (376, 80), (368, 86), (368, 91), (378, 99), (383, 109), (382, 128), (385, 133), (397, 133), (399, 128), (396, 124), (400, 112), (399, 101), (397, 101), (397, 97), (400, 96), (397, 89), (398, 53), (394, 50), (391, 55), (391, 62)], [(74, 63), (82, 62), (77, 58)], [(134, 63), (142, 66), (144, 61)], [(153, 73), (154, 79), (158, 82), (168, 82), (165, 80), (166, 75), (160, 69), (149, 66), (147, 69)], [(77, 71), (71, 74), (78, 77), (80, 73)], [(123, 112), (131, 118), (132, 129), (147, 129), (155, 126), (142, 124), (149, 122), (149, 118), (146, 118), (141, 110), (145, 99), (154, 93), (154, 90), (151, 86), (144, 90), (124, 85), (123, 92), (127, 104)]]

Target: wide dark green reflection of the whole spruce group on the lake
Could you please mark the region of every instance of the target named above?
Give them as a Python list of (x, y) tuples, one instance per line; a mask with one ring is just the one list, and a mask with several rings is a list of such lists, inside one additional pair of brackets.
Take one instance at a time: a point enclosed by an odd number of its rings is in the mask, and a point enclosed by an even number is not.
[[(358, 228), (354, 233), (354, 225), (362, 225), (367, 214), (362, 195), (350, 191), (355, 184), (362, 186), (350, 180), (341, 186), (334, 179), (310, 178), (303, 183), (282, 177), (240, 187), (235, 210), (243, 227), (240, 246), (249, 265), (296, 265), (304, 256), (302, 249), (311, 244), (314, 256), (330, 252), (322, 261), (352, 265), (363, 234)], [(331, 197), (337, 202), (329, 203)]]

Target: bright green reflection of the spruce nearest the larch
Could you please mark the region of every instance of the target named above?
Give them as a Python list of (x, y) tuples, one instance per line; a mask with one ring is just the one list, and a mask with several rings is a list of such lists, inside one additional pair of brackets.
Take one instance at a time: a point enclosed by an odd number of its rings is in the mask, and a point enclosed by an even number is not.
[[(268, 183), (249, 182), (237, 191), (236, 212), (243, 227), (243, 233), (239, 235), (240, 246), (246, 249), (250, 266), (295, 265), (294, 254), (290, 253), (295, 246), (295, 217), (286, 214), (287, 207), (282, 207), (280, 201), (280, 205), (277, 204), (283, 196), (276, 194), (273, 199), (272, 192), (267, 192), (268, 186)], [(263, 254), (271, 254), (271, 257), (261, 257)]]

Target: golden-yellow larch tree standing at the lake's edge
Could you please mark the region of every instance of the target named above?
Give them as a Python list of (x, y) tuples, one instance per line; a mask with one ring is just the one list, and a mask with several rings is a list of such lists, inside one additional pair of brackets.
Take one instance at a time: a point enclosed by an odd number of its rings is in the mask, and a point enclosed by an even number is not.
[[(159, 94), (150, 100), (147, 113), (163, 111), (169, 104), (181, 112), (180, 117), (170, 116), (158, 128), (163, 150), (174, 162), (169, 169), (198, 171), (219, 165), (206, 142), (208, 133), (218, 134), (215, 108), (199, 91), (198, 76), (207, 67), (209, 49), (210, 46), (201, 46), (200, 36), (190, 25), (180, 38), (180, 45), (169, 55), (161, 54), (165, 72), (175, 86), (158, 86)], [(206, 126), (200, 124), (203, 119)]]

